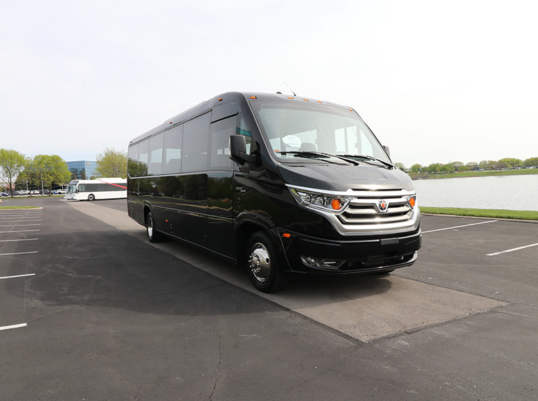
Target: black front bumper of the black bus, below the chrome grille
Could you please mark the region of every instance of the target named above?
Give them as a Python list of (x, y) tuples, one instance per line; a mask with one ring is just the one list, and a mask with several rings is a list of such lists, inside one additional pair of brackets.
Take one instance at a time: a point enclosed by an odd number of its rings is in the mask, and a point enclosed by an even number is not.
[[(326, 240), (277, 229), (288, 271), (317, 274), (385, 272), (417, 261), (422, 234), (360, 240)], [(286, 234), (286, 235), (285, 235)]]

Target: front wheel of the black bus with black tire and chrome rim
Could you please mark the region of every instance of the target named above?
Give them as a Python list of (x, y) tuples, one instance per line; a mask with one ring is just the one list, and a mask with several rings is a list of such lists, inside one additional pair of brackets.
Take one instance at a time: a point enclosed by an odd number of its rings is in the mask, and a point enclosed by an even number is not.
[(274, 293), (287, 284), (288, 275), (280, 268), (271, 238), (263, 231), (255, 232), (247, 243), (246, 267), (252, 284), (262, 293)]

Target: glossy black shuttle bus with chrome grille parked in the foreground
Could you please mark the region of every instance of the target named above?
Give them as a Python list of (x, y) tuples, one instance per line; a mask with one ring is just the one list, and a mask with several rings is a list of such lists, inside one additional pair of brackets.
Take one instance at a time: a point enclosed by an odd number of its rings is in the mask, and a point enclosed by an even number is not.
[(353, 108), (228, 92), (131, 140), (128, 215), (244, 265), (255, 288), (290, 273), (390, 272), (417, 260), (420, 213)]

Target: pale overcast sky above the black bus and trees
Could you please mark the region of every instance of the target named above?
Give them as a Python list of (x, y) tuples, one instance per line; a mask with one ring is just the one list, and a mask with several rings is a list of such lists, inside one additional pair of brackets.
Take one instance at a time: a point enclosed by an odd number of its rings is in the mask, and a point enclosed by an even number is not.
[(355, 108), (414, 163), (538, 156), (535, 1), (0, 0), (0, 147), (95, 160), (221, 92)]

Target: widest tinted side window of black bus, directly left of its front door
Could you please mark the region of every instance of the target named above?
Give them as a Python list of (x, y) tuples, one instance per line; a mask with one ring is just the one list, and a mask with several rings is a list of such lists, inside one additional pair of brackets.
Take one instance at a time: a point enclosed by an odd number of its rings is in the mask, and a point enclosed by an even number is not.
[(210, 113), (183, 124), (182, 172), (208, 170), (208, 137)]

